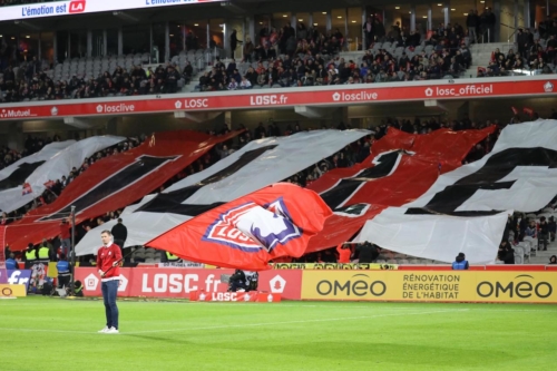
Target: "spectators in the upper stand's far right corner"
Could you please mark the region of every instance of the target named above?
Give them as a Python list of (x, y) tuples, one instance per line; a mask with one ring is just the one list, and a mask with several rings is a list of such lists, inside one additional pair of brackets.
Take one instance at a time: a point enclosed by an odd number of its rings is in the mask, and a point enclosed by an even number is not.
[(557, 66), (557, 20), (548, 18), (538, 29), (518, 29), (516, 48), (507, 53), (494, 50), (486, 68), (478, 70), (478, 77), (509, 76), (515, 72), (554, 74)]

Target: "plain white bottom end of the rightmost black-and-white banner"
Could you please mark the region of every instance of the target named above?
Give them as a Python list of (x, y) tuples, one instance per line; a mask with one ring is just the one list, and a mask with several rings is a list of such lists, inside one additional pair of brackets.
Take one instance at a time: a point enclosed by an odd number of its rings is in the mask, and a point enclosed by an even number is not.
[(463, 252), (470, 264), (495, 262), (508, 214), (477, 217), (407, 215), (404, 207), (389, 207), (365, 222), (354, 242), (369, 241), (410, 256), (452, 263)]

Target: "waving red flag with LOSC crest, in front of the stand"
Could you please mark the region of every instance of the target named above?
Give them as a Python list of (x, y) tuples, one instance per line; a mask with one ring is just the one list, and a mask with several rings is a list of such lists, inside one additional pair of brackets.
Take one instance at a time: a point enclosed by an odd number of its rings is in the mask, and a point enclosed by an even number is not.
[(331, 213), (314, 192), (274, 184), (205, 212), (147, 245), (188, 261), (261, 271), (273, 257), (304, 254)]

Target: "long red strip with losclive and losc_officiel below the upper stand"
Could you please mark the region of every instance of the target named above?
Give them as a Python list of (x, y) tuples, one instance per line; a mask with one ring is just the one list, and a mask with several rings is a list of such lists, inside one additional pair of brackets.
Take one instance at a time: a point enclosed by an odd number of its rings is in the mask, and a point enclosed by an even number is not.
[[(458, 80), (457, 80), (458, 81)], [(467, 82), (426, 81), (416, 84), (372, 84), (268, 90), (268, 92), (219, 91), (175, 95), (172, 98), (129, 97), (89, 100), (49, 100), (7, 105), (0, 120), (79, 116), (118, 116), (147, 113), (229, 110), (294, 106), (332, 106), (378, 101), (424, 99), (471, 99), (510, 96), (553, 95), (557, 79), (545, 76), (509, 79), (478, 79)]]

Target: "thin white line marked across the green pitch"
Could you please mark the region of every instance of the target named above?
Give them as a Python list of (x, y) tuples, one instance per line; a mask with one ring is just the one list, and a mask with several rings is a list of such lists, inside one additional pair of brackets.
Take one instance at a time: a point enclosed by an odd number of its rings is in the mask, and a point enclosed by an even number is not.
[[(271, 326), (271, 325), (296, 324), (296, 323), (353, 321), (353, 320), (377, 319), (377, 318), (394, 316), (394, 315), (421, 315), (421, 314), (436, 314), (436, 313), (456, 313), (456, 312), (466, 312), (466, 311), (468, 311), (468, 309), (450, 310), (450, 311), (428, 311), (428, 312), (416, 312), (416, 313), (394, 313), (394, 314), (361, 315), (361, 316), (346, 316), (346, 318), (339, 318), (339, 319), (322, 319), (322, 320), (300, 320), (300, 321), (284, 321), (284, 322), (225, 324), (225, 325), (203, 326), (203, 328), (131, 331), (131, 332), (120, 333), (120, 335), (135, 335), (135, 334), (144, 334), (144, 333), (177, 332), (177, 331), (198, 331), (198, 330), (219, 330), (219, 329), (255, 328), (255, 326)], [(19, 332), (49, 332), (49, 333), (75, 333), (75, 334), (87, 334), (87, 335), (97, 335), (97, 334), (100, 335), (100, 333), (95, 333), (95, 332), (71, 331), (71, 330), (13, 329), (13, 328), (0, 328), (0, 330), (3, 330), (3, 331), (19, 331)]]

